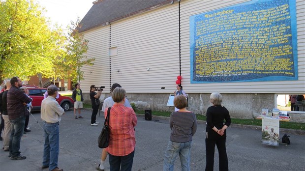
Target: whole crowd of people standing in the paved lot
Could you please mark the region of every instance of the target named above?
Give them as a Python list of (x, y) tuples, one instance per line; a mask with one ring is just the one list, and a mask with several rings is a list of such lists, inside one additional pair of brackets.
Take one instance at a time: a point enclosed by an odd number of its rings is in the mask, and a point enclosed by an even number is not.
[[(50, 85), (41, 103), (41, 119), (43, 120), (44, 146), (42, 169), (49, 171), (63, 171), (58, 168), (60, 129), (59, 124), (64, 110), (56, 98), (59, 96), (59, 88)], [(97, 91), (97, 93), (95, 92)], [(12, 160), (23, 160), (26, 156), (21, 155), (20, 140), (27, 129), (27, 116), (30, 114), (31, 101), (27, 87), (22, 87), (22, 81), (13, 77), (6, 83), (5, 91), (1, 93), (1, 117), (4, 120), (3, 149), (9, 151)], [(102, 90), (95, 85), (90, 87), (92, 106), (91, 125), (97, 126), (96, 114), (100, 103)], [(164, 154), (163, 171), (174, 171), (176, 158), (180, 157), (182, 171), (190, 171), (190, 151), (192, 137), (197, 130), (196, 115), (188, 111), (187, 95), (181, 85), (177, 85), (175, 91), (175, 112), (170, 115), (169, 126), (171, 134)], [(83, 92), (80, 84), (75, 85), (72, 93), (75, 119), (83, 118)], [(219, 154), (219, 170), (228, 171), (228, 158), (226, 154), (226, 129), (231, 124), (228, 110), (221, 105), (220, 93), (212, 93), (210, 102), (213, 104), (207, 110), (207, 126), (205, 133), (206, 141), (206, 171), (213, 171), (215, 145)], [(77, 112), (78, 111), (78, 114)], [(137, 117), (129, 101), (126, 99), (126, 91), (121, 85), (115, 83), (111, 87), (111, 96), (104, 100), (101, 111), (105, 118), (109, 116), (110, 140), (109, 146), (102, 149), (98, 171), (105, 170), (105, 160), (109, 156), (111, 171), (131, 171), (133, 157), (135, 155), (135, 126)]]

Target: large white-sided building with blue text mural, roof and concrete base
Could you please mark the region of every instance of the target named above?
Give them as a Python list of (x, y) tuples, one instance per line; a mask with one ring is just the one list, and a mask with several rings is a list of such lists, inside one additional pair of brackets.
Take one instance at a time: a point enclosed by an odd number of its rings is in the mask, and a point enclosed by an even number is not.
[(190, 111), (205, 115), (220, 92), (232, 117), (253, 118), (276, 108), (278, 94), (305, 94), (304, 16), (302, 0), (96, 0), (78, 28), (95, 58), (81, 86), (106, 86), (107, 97), (119, 83), (140, 109), (173, 111), (167, 101), (182, 76)]

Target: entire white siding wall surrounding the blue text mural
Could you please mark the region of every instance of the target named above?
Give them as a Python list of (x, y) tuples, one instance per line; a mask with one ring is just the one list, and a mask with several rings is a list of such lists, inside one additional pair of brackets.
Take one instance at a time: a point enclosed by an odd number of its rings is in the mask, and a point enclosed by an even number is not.
[[(305, 1), (297, 0), (298, 81), (190, 84), (189, 17), (191, 15), (244, 2), (242, 0), (181, 0), (182, 84), (187, 93), (300, 93), (305, 92)], [(111, 23), (109, 83), (109, 26), (85, 32), (90, 41), (88, 57), (93, 66), (83, 67), (85, 81), (91, 84), (120, 83), (128, 93), (172, 93), (179, 75), (178, 2)], [(147, 69), (150, 68), (150, 71)], [(118, 72), (120, 70), (120, 72)], [(90, 72), (92, 72), (90, 74)], [(161, 89), (165, 87), (165, 89)]]

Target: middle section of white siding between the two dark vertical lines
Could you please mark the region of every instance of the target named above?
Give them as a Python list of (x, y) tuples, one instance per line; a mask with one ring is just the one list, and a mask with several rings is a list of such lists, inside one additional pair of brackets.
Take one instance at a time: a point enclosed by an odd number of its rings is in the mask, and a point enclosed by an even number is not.
[(128, 93), (173, 92), (179, 75), (178, 22), (177, 7), (168, 5), (112, 23), (111, 47), (118, 47), (118, 56), (111, 57), (111, 82)]

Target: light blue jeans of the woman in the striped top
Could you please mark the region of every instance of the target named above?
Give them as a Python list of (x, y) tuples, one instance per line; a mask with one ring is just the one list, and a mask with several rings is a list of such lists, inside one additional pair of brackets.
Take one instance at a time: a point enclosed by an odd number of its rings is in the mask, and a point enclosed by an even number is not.
[(163, 171), (174, 171), (175, 160), (179, 154), (181, 162), (181, 171), (190, 171), (190, 142), (172, 142), (169, 141), (164, 154)]

